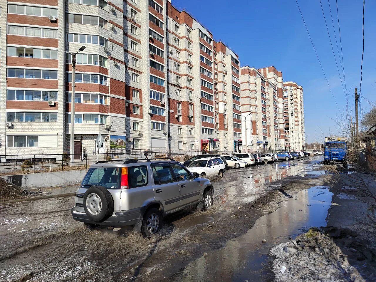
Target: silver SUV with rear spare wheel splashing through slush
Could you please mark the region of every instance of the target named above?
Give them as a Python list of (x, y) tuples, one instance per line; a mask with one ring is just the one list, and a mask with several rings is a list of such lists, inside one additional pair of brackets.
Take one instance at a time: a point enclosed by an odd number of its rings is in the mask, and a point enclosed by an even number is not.
[(165, 215), (188, 206), (209, 209), (214, 187), (173, 159), (101, 161), (90, 166), (71, 209), (86, 225), (125, 226), (150, 237)]

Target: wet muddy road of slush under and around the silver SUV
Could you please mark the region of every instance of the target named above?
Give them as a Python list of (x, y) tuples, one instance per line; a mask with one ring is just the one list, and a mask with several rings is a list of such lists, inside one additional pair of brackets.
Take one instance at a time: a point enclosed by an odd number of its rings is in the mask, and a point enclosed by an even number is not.
[[(198, 281), (180, 275), (205, 258), (204, 252), (221, 250), (246, 234), (278, 202), (324, 185), (327, 175), (317, 171), (320, 161), (316, 157), (228, 170), (213, 182), (211, 210), (188, 209), (170, 216), (150, 239), (129, 227), (89, 230), (71, 218), (73, 197), (0, 205), (0, 281)], [(212, 261), (211, 267), (226, 267)]]

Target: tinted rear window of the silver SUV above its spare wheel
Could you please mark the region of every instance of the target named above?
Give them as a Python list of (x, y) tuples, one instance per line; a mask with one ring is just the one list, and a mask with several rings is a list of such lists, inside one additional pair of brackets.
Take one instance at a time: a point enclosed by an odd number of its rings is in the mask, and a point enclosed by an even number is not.
[(120, 167), (92, 167), (86, 173), (82, 185), (119, 189), (119, 181)]

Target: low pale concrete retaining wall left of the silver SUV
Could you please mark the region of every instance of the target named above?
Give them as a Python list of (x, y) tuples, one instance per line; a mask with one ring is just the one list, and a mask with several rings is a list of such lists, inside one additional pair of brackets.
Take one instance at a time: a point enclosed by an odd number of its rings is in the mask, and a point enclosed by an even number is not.
[(87, 170), (68, 170), (1, 176), (21, 188), (45, 188), (81, 183)]

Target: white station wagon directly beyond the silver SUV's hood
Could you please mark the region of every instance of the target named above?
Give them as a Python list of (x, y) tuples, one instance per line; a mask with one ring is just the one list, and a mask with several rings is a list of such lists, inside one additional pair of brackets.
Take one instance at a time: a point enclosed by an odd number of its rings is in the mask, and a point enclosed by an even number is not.
[(224, 162), (221, 158), (211, 157), (197, 159), (187, 167), (192, 173), (197, 172), (201, 177), (214, 176), (223, 177), (225, 171)]

